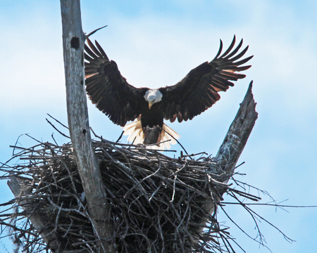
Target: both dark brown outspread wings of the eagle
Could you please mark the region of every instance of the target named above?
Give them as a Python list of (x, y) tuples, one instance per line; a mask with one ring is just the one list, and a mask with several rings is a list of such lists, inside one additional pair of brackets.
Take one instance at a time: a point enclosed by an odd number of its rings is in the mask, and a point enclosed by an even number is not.
[[(247, 70), (247, 63), (253, 56), (241, 59), (248, 46), (240, 53), (243, 41), (234, 48), (235, 37), (228, 49), (221, 55), (223, 41), (216, 57), (211, 62), (202, 63), (191, 70), (187, 76), (174, 86), (160, 88), (163, 94), (161, 110), (165, 119), (171, 122), (178, 119), (192, 119), (210, 108), (220, 99), (218, 91), (226, 91), (234, 84), (230, 81), (242, 79), (245, 74), (237, 72)], [(104, 112), (115, 124), (124, 126), (134, 120), (148, 107), (143, 96), (147, 88), (137, 89), (128, 84), (121, 76), (118, 66), (109, 60), (96, 41), (95, 45), (87, 39), (85, 45), (86, 89), (89, 98), (99, 110)], [(233, 50), (232, 50), (233, 49)], [(239, 60), (239, 61), (237, 61)]]

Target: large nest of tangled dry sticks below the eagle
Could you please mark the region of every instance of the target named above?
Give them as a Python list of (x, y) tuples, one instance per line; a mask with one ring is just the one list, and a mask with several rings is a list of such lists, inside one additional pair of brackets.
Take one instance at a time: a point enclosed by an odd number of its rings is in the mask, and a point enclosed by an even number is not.
[[(216, 219), (229, 189), (222, 182), (230, 175), (216, 161), (206, 155), (170, 158), (105, 140), (93, 143), (113, 222), (113, 236), (106, 240), (117, 252), (230, 251), (227, 228)], [(39, 143), (20, 148), (15, 157), (25, 161), (7, 168), (11, 182), (20, 185), (15, 206), (22, 209), (6, 223), (18, 231), (13, 233), (16, 241), (26, 252), (95, 252), (98, 240), (72, 146)], [(42, 229), (31, 224), (35, 220), (42, 222)], [(40, 235), (53, 239), (44, 243)]]

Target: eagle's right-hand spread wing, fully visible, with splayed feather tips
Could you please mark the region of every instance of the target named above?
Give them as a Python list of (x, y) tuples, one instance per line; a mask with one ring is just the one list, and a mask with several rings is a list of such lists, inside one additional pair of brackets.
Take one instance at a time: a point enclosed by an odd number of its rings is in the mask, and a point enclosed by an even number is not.
[(242, 70), (247, 70), (251, 65), (240, 66), (247, 63), (253, 56), (242, 58), (249, 46), (241, 53), (237, 53), (241, 46), (235, 49), (235, 37), (225, 53), (220, 56), (223, 49), (223, 42), (220, 40), (220, 48), (216, 57), (211, 62), (202, 63), (191, 70), (187, 76), (174, 86), (166, 86), (159, 89), (163, 94), (162, 108), (165, 119), (174, 122), (192, 119), (210, 108), (220, 99), (218, 91), (226, 91), (229, 86), (233, 86), (230, 81), (242, 79), (245, 74), (238, 74)]

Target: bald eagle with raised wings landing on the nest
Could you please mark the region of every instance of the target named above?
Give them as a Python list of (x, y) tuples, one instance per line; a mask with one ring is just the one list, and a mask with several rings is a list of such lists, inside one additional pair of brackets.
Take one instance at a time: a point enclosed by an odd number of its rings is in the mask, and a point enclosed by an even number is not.
[[(125, 126), (128, 141), (155, 144), (154, 147), (170, 148), (174, 138), (180, 136), (163, 123), (163, 119), (174, 122), (187, 121), (201, 114), (220, 99), (219, 91), (233, 86), (230, 81), (242, 79), (251, 65), (253, 56), (241, 59), (249, 46), (240, 53), (243, 39), (235, 46), (235, 37), (225, 53), (221, 54), (223, 42), (213, 60), (191, 70), (184, 79), (173, 86), (159, 89), (135, 88), (120, 74), (116, 62), (109, 60), (99, 43), (87, 39), (85, 45), (86, 91), (99, 110), (115, 124)], [(232, 50), (233, 49), (233, 50)], [(136, 119), (136, 120), (135, 120)], [(128, 121), (133, 121), (126, 124)], [(170, 140), (170, 142), (168, 142)], [(165, 142), (164, 142), (165, 141)], [(163, 143), (162, 143), (163, 142)]]

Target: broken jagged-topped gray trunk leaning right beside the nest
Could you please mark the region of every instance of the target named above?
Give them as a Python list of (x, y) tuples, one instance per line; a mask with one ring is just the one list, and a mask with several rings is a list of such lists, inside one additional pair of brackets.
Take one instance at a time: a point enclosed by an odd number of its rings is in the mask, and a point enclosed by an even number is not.
[(230, 177), (234, 173), (235, 165), (239, 160), (256, 119), (258, 118), (258, 113), (255, 110), (256, 103), (252, 94), (252, 84), (253, 81), (250, 82), (247, 94), (240, 104), (240, 109), (230, 125), (225, 139), (220, 145), (216, 155), (218, 164), (221, 165), (221, 169), (227, 175), (227, 179), (223, 183), (228, 183)]

